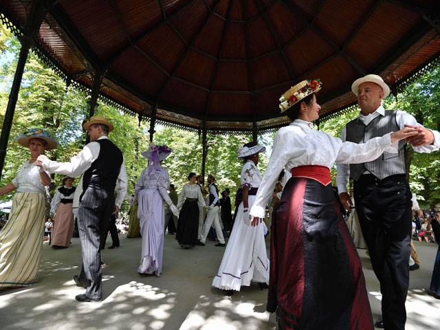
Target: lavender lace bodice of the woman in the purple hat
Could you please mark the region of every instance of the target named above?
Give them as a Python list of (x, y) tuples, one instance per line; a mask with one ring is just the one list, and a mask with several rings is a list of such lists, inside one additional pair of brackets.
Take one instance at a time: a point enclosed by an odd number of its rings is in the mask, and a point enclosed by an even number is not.
[(143, 189), (156, 189), (159, 190), (159, 194), (162, 199), (166, 201), (168, 205), (173, 204), (170, 197), (168, 196), (168, 190), (170, 188), (170, 176), (168, 175), (168, 170), (165, 167), (160, 166), (160, 168), (153, 168), (150, 174), (148, 174), (148, 166), (142, 170), (142, 173), (137, 179), (135, 185), (135, 197), (134, 201), (137, 201), (137, 196), (140, 190)]

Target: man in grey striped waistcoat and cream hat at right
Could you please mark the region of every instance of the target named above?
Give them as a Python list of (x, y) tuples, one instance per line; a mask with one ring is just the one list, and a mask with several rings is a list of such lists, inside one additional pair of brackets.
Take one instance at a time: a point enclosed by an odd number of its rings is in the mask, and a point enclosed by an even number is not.
[(355, 80), (351, 90), (358, 97), (360, 115), (342, 131), (342, 140), (355, 143), (410, 126), (418, 135), (400, 141), (379, 158), (364, 164), (338, 165), (336, 182), (342, 205), (349, 210), (349, 177), (362, 234), (380, 281), (382, 320), (375, 327), (404, 330), (405, 300), (409, 283), (411, 192), (406, 178), (406, 142), (418, 153), (437, 151), (440, 133), (423, 128), (404, 112), (385, 110), (382, 99), (390, 89), (380, 76), (369, 74)]

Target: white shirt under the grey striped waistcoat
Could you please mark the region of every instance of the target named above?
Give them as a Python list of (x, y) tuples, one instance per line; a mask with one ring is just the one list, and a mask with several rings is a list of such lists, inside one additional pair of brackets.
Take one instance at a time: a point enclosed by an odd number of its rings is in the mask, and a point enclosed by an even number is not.
[[(373, 113), (369, 113), (369, 115), (360, 115), (358, 116), (358, 120), (360, 120), (365, 126), (368, 125), (373, 119), (379, 117), (380, 115), (385, 115), (385, 109), (382, 107), (378, 107), (376, 111)], [(405, 111), (396, 111), (396, 121), (399, 129), (404, 129), (405, 124), (408, 125), (417, 125), (422, 126), (417, 122), (413, 115), (406, 113)], [(434, 143), (428, 146), (413, 146), (415, 152), (417, 153), (431, 153), (432, 151), (439, 150), (440, 147), (440, 133), (438, 131), (430, 130), (434, 134)], [(345, 141), (347, 137), (347, 126), (342, 129), (341, 140)], [(398, 153), (398, 144), (395, 144), (392, 148), (387, 150), (389, 153)], [(402, 173), (403, 174), (403, 173)], [(338, 174), (336, 175), (336, 186), (338, 186), (338, 192), (347, 192), (347, 184), (349, 182), (350, 177), (350, 166), (349, 164), (338, 164)]]

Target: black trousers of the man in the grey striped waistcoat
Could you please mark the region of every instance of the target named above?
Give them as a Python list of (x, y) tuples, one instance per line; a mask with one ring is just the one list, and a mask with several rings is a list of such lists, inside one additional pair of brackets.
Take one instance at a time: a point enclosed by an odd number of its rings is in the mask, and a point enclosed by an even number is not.
[(409, 284), (411, 192), (405, 175), (354, 184), (355, 207), (371, 264), (380, 282), (385, 329), (405, 329)]

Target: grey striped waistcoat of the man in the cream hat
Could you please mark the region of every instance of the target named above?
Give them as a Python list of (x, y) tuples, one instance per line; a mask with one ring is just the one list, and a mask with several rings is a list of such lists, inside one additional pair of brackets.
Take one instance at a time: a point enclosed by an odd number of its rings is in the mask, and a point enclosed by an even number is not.
[[(355, 143), (364, 143), (373, 137), (382, 136), (386, 133), (399, 131), (395, 110), (386, 110), (385, 115), (378, 116), (368, 125), (364, 125), (358, 118), (351, 120), (346, 126), (346, 140)], [(365, 170), (369, 170), (375, 177), (384, 179), (390, 175), (405, 174), (406, 142), (399, 142), (398, 153), (384, 152), (372, 162), (362, 164), (350, 164), (351, 179), (358, 180)]]

